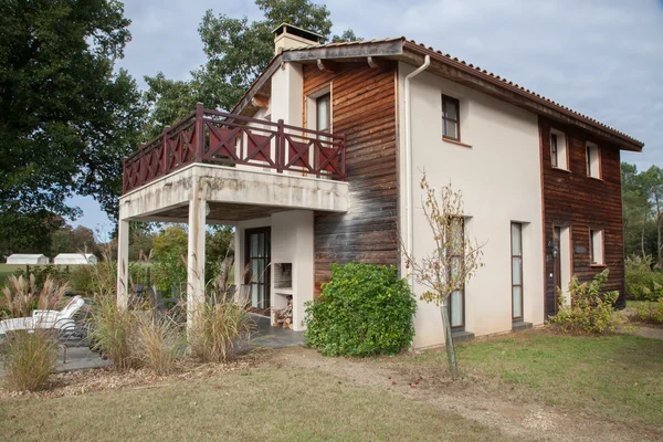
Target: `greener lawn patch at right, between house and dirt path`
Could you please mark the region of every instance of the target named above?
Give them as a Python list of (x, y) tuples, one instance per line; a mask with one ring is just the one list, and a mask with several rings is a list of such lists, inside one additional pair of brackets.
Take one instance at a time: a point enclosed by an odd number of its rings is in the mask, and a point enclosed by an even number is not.
[[(456, 348), (460, 369), (496, 393), (663, 428), (663, 340), (529, 330)], [(407, 359), (446, 365), (443, 350)]]

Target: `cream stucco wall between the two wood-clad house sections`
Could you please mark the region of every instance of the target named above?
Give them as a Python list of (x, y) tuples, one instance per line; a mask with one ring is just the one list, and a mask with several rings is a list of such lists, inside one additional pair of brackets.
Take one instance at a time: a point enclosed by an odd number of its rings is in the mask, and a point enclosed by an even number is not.
[[(404, 76), (399, 65), (400, 164), (404, 165)], [(461, 141), (442, 139), (441, 95), (460, 99)], [(475, 335), (512, 329), (511, 222), (524, 223), (524, 320), (544, 322), (541, 183), (537, 116), (424, 72), (411, 82), (414, 255), (431, 251), (432, 234), (421, 210), (421, 170), (440, 188), (462, 190), (466, 235), (483, 248), (485, 267), (465, 290), (465, 330)], [(406, 232), (404, 172), (400, 173), (400, 219)], [(404, 269), (404, 263), (401, 263)], [(424, 292), (415, 285), (415, 294)], [(436, 307), (419, 302), (415, 347), (443, 344)]]

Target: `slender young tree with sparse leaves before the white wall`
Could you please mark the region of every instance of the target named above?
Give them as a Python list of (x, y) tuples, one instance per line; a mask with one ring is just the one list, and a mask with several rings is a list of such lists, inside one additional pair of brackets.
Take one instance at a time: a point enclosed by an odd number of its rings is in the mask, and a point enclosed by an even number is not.
[(483, 244), (464, 235), (464, 208), (460, 191), (453, 190), (451, 183), (442, 187), (440, 194), (430, 187), (425, 172), (421, 178), (423, 190), (423, 214), (433, 233), (433, 251), (424, 256), (410, 255), (402, 246), (407, 267), (414, 275), (417, 283), (428, 288), (421, 299), (434, 303), (440, 307), (442, 325), (446, 341), (449, 368), (453, 377), (457, 377), (459, 368), (455, 358), (455, 347), (451, 336), (449, 317), (449, 299), (453, 292), (462, 290), (474, 276), (476, 270), (483, 266)]

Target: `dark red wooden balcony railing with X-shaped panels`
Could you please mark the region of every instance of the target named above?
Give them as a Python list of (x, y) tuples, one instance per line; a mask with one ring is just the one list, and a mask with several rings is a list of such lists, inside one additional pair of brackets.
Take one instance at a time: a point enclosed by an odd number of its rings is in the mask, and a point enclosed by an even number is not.
[(345, 136), (203, 108), (125, 158), (123, 193), (193, 162), (245, 165), (345, 181)]

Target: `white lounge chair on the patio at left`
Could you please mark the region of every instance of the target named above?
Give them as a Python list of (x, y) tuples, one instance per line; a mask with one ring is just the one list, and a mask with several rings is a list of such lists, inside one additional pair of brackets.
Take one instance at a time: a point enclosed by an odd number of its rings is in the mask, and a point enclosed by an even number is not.
[(85, 305), (81, 296), (74, 296), (61, 311), (33, 311), (31, 317), (0, 320), (0, 336), (14, 330), (51, 328), (59, 332), (73, 332), (76, 328), (74, 315)]

